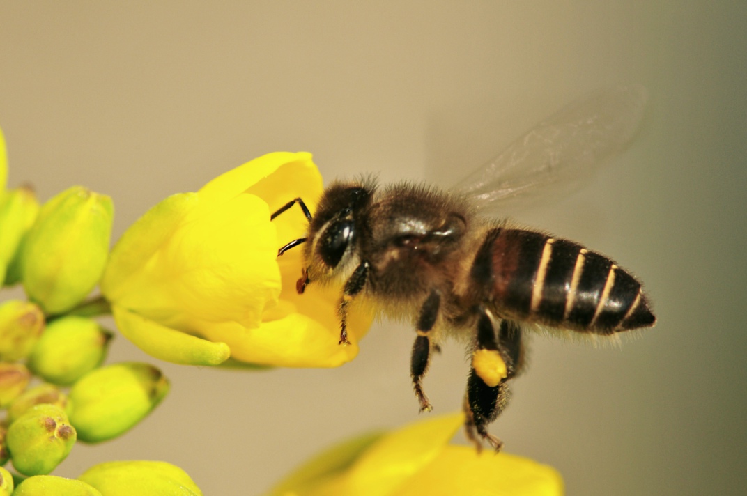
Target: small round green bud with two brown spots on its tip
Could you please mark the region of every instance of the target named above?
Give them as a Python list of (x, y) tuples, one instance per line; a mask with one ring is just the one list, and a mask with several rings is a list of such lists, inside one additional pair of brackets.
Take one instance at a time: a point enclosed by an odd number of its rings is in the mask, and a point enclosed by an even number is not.
[(7, 429), (7, 449), (13, 467), (24, 475), (55, 470), (75, 444), (75, 429), (55, 405), (37, 405)]

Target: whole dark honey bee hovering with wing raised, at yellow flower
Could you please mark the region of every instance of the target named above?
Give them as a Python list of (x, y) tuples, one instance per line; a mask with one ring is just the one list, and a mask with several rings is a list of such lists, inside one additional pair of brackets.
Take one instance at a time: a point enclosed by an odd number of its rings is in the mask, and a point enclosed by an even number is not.
[(491, 217), (495, 207), (547, 185), (589, 176), (619, 152), (638, 127), (642, 87), (618, 87), (564, 108), (451, 190), (371, 179), (334, 182), (309, 220), (297, 291), (311, 283), (342, 283), (341, 345), (356, 300), (408, 316), (415, 326), (410, 374), (420, 409), (430, 356), (444, 336), (468, 336), (472, 352), (464, 409), (468, 438), (500, 450), (488, 425), (503, 412), (509, 382), (524, 364), (522, 336), (541, 326), (613, 336), (653, 326), (640, 282), (598, 252)]

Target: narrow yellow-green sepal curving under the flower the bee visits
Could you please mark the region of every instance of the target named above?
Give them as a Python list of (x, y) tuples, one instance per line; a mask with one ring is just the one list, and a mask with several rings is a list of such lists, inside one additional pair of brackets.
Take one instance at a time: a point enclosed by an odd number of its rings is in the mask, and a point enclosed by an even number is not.
[(119, 306), (112, 306), (112, 313), (125, 338), (157, 359), (182, 365), (217, 365), (231, 353), (225, 343), (169, 329)]

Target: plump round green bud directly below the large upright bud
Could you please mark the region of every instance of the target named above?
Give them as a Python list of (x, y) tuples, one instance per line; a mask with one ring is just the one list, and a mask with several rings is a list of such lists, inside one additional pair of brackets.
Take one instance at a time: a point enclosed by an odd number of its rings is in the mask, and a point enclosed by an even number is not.
[(58, 385), (70, 385), (101, 365), (111, 333), (86, 317), (61, 317), (47, 325), (28, 367), (37, 376)]

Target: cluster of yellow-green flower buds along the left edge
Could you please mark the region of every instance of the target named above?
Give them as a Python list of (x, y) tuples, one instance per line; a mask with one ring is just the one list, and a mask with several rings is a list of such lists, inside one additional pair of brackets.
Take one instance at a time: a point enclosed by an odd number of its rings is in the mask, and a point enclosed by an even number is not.
[(134, 427), (169, 382), (145, 363), (105, 364), (112, 333), (96, 316), (110, 309), (90, 295), (109, 255), (111, 199), (75, 186), (40, 205), (31, 187), (7, 190), (6, 157), (0, 131), (0, 287), (22, 285), (26, 297), (0, 301), (0, 496), (202, 494), (165, 462), (49, 475), (76, 441)]

